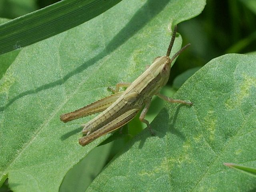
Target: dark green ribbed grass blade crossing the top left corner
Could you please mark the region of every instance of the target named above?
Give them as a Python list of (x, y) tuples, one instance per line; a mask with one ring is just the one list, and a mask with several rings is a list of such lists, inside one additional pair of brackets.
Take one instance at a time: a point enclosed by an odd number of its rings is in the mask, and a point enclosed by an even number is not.
[[(121, 0), (62, 0), (0, 25), (0, 54), (44, 40), (99, 14)], [(87, 32), (88, 29), (85, 29)]]

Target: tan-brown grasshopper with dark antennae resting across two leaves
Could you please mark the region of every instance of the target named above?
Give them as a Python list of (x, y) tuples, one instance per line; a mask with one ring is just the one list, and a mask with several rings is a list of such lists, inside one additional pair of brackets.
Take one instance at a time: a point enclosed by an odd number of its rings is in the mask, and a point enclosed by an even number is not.
[[(187, 44), (182, 47), (170, 58), (169, 56), (174, 44), (176, 32), (177, 26), (174, 28), (166, 56), (156, 57), (151, 66), (134, 80), (134, 82), (118, 83), (116, 84), (116, 89), (112, 89), (114, 92), (113, 95), (98, 100), (74, 112), (60, 116), (60, 120), (66, 123), (77, 118), (102, 112), (86, 124), (82, 124), (82, 133), (86, 134), (86, 136), (79, 139), (80, 145), (85, 146), (96, 138), (125, 125), (132, 120), (143, 107), (144, 109), (140, 114), (140, 121), (144, 122), (152, 135), (154, 135), (154, 131), (151, 129), (149, 122), (144, 119), (154, 95), (168, 102), (192, 105), (192, 102), (168, 98), (159, 93), (160, 89), (168, 82), (172, 61), (190, 45)], [(119, 92), (120, 87), (127, 88), (125, 91)]]

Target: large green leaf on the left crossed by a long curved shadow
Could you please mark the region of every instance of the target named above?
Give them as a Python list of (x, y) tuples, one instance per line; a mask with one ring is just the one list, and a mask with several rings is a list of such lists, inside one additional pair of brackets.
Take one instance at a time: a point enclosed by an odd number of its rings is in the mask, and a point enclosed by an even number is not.
[[(64, 124), (60, 114), (108, 96), (108, 86), (132, 82), (166, 53), (171, 26), (200, 14), (204, 5), (122, 1), (23, 48), (0, 81), (0, 174), (8, 174), (11, 190), (58, 191), (68, 170), (109, 136), (81, 147), (80, 124), (94, 116)], [(173, 52), (180, 46), (178, 35)]]

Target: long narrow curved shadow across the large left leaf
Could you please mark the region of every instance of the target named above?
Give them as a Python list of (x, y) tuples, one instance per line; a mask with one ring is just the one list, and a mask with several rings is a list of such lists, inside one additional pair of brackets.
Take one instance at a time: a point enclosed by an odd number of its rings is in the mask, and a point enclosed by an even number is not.
[(141, 28), (143, 28), (152, 18), (154, 18), (161, 10), (166, 6), (166, 4), (170, 0), (162, 0), (161, 3), (158, 3), (155, 0), (148, 0), (131, 18), (131, 20), (114, 36), (114, 38), (106, 45), (104, 50), (94, 56), (93, 58), (89, 59), (88, 61), (84, 62), (84, 64), (78, 66), (76, 69), (72, 70), (70, 73), (66, 74), (63, 78), (60, 78), (54, 82), (44, 84), (37, 88), (27, 90), (14, 96), (14, 98), (10, 99), (10, 101), (3, 107), (0, 107), (0, 112), (4, 111), (8, 108), (13, 102), (17, 99), (22, 98), (29, 94), (36, 94), (42, 90), (47, 90), (49, 88), (59, 86), (64, 84), (69, 78), (72, 76), (83, 72), (86, 68), (94, 64), (95, 62), (101, 60), (105, 56), (109, 55), (110, 53), (114, 52), (118, 47), (124, 44), (129, 38), (134, 36), (136, 32), (138, 32)]

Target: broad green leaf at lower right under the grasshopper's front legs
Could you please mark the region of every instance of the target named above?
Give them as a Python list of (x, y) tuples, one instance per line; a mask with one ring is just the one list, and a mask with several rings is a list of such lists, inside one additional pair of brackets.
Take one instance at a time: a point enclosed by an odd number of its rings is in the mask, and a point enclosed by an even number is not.
[(256, 165), (256, 56), (213, 59), (174, 94), (87, 191), (250, 191), (255, 179), (223, 162)]

